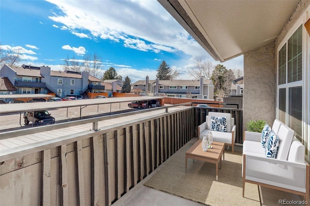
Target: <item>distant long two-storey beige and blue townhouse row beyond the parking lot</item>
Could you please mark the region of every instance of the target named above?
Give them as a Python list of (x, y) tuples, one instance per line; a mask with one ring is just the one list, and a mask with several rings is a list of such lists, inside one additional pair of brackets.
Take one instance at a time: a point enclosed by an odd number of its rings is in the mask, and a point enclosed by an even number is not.
[(159, 80), (153, 86), (154, 96), (213, 100), (214, 85), (211, 80)]

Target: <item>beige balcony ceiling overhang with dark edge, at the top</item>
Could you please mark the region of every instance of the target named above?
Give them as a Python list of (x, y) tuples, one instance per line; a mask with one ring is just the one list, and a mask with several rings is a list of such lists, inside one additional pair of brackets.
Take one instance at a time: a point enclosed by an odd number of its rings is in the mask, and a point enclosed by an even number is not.
[(215, 59), (273, 42), (300, 0), (158, 0)]

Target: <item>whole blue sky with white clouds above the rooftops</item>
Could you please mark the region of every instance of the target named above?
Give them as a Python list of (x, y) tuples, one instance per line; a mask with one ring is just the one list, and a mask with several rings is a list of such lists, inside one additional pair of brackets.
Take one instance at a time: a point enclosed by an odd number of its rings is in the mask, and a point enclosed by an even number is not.
[[(62, 70), (63, 59), (101, 56), (131, 82), (156, 78), (162, 60), (192, 79), (198, 59), (215, 61), (157, 0), (1, 0), (0, 42), (19, 50), (22, 64)], [(242, 69), (243, 56), (221, 63)]]

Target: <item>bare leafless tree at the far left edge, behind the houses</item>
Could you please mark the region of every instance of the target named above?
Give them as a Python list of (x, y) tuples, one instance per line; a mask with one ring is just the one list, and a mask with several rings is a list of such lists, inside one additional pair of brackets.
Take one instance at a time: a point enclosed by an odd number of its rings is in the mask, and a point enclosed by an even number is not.
[(9, 66), (17, 65), (21, 60), (21, 52), (20, 49), (4, 49), (0, 44), (0, 67), (4, 64)]

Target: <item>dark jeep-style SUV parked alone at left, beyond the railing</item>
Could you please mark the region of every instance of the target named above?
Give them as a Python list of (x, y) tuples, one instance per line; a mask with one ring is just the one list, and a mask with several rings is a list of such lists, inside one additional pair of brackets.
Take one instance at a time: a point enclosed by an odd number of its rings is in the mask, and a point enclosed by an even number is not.
[(29, 122), (33, 122), (37, 125), (43, 124), (55, 124), (55, 118), (50, 116), (47, 110), (35, 111), (33, 112), (25, 112), (24, 113), (24, 121), (25, 124), (29, 124)]

